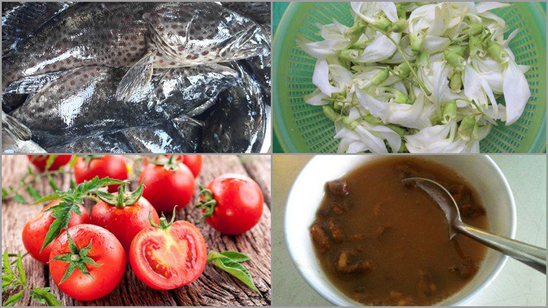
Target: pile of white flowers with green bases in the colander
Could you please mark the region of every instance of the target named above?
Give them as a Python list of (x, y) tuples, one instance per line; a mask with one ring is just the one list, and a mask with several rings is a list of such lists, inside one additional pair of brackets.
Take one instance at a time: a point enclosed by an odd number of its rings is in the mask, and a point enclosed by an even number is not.
[[(340, 153), (477, 153), (496, 120), (514, 123), (531, 92), (490, 12), (506, 3), (356, 2), (354, 24), (318, 25), (305, 99), (334, 122)], [(506, 107), (497, 104), (503, 96)]]

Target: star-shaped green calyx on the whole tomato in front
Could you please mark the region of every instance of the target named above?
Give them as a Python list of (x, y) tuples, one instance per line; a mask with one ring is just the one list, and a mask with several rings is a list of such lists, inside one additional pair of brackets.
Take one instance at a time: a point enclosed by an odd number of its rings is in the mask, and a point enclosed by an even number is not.
[(69, 230), (66, 231), (66, 238), (69, 241), (69, 249), (71, 250), (71, 252), (65, 253), (64, 255), (56, 255), (52, 259), (63, 261), (69, 264), (69, 267), (66, 268), (66, 271), (64, 272), (61, 282), (59, 284), (66, 281), (66, 279), (69, 279), (69, 277), (71, 277), (76, 268), (78, 268), (83, 274), (93, 277), (93, 275), (88, 270), (86, 264), (91, 264), (92, 266), (97, 267), (103, 265), (97, 264), (94, 259), (88, 257), (88, 253), (91, 251), (91, 245), (93, 241), (90, 240), (90, 244), (88, 244), (88, 246), (84, 248), (78, 248), (73, 238), (71, 237), (71, 233), (69, 233)]

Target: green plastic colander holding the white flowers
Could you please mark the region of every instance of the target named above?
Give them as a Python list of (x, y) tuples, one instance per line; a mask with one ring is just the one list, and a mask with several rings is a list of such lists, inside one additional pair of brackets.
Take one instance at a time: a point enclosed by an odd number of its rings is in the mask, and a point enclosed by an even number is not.
[[(493, 127), (480, 142), (484, 153), (539, 153), (546, 149), (546, 11), (540, 2), (512, 4), (493, 12), (506, 21), (509, 32), (520, 29), (510, 49), (518, 64), (532, 67), (525, 75), (531, 98), (516, 123)], [(352, 25), (349, 3), (293, 2), (279, 21), (273, 43), (274, 131), (285, 152), (337, 150), (333, 123), (325, 118), (321, 107), (303, 101), (303, 96), (315, 88), (312, 73), (316, 59), (302, 51), (295, 40), (297, 37), (321, 40), (316, 23), (325, 25), (333, 19)]]

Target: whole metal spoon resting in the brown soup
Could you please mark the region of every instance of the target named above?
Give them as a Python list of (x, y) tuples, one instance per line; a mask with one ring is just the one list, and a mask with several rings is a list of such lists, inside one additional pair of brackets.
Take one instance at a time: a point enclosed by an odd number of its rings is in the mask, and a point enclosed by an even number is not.
[(445, 218), (449, 223), (449, 239), (452, 239), (457, 233), (464, 234), (477, 242), (480, 242), (490, 248), (493, 248), (505, 255), (508, 255), (528, 266), (546, 274), (546, 248), (540, 248), (503, 238), (499, 235), (488, 233), (482, 229), (477, 229), (465, 224), (460, 218), (460, 211), (453, 196), (436, 181), (423, 179), (421, 177), (412, 177), (403, 179), (404, 183), (414, 182), (421, 190), (424, 190), (430, 197), (438, 203), (445, 213)]

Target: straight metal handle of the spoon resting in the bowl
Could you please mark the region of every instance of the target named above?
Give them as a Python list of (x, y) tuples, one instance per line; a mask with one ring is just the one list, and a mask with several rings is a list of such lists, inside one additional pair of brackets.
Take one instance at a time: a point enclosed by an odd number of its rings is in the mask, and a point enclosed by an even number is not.
[(508, 255), (528, 266), (546, 274), (546, 249), (532, 246), (524, 242), (503, 238), (502, 236), (488, 233), (482, 229), (477, 229), (468, 224), (458, 224), (456, 226), (460, 233), (473, 238), (490, 248), (493, 248), (505, 255)]

